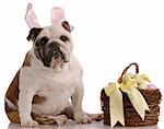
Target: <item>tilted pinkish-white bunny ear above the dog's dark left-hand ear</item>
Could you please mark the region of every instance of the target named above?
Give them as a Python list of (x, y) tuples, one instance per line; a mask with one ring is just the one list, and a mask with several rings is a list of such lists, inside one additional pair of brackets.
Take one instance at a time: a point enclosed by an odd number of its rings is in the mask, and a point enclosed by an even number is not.
[(32, 8), (33, 8), (33, 4), (28, 3), (27, 9), (26, 9), (26, 14), (25, 14), (25, 21), (28, 24), (30, 28), (40, 27), (40, 25), (37, 21), (36, 14)]

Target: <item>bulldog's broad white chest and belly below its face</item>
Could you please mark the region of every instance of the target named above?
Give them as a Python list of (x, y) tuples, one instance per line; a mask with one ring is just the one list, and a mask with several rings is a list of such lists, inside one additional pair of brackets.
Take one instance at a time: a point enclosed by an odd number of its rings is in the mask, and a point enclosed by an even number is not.
[[(49, 72), (38, 67), (24, 67), (21, 70), (21, 87), (44, 97), (44, 102), (33, 104), (32, 110), (37, 114), (59, 114), (69, 105), (69, 98), (77, 86), (82, 86), (81, 66), (73, 61), (62, 72)], [(24, 90), (23, 90), (24, 91)]]

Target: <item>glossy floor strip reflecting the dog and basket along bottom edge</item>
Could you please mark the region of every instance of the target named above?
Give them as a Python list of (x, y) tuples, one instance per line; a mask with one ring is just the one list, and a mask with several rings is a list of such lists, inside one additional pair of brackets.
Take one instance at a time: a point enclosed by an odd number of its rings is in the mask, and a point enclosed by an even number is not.
[[(10, 124), (8, 129), (32, 129), (32, 128), (21, 128), (17, 124)], [(94, 121), (90, 125), (78, 125), (74, 121), (69, 121), (62, 127), (57, 126), (39, 126), (33, 129), (110, 129), (109, 126), (104, 125), (102, 121)], [(115, 128), (115, 129), (122, 129), (122, 128)], [(124, 129), (162, 129), (159, 126), (151, 126), (151, 127), (132, 127), (132, 128), (124, 128)]]

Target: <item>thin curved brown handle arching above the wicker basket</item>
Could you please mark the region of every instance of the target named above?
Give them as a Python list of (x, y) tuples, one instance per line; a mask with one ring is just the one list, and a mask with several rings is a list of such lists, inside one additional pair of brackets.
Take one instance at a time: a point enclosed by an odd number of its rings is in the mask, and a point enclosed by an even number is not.
[(127, 73), (128, 69), (129, 69), (131, 66), (136, 66), (136, 73), (139, 73), (139, 66), (138, 66), (138, 63), (132, 62), (132, 63), (130, 63), (127, 68), (124, 69), (124, 71), (122, 71), (120, 78), (117, 80), (118, 83), (121, 83), (121, 82), (122, 82), (122, 77), (124, 77), (124, 74)]

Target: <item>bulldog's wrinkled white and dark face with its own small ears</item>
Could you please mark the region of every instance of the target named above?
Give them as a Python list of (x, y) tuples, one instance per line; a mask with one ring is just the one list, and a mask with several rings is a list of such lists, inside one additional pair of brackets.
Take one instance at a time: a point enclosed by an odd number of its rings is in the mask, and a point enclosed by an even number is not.
[(73, 49), (71, 26), (63, 21), (61, 24), (44, 28), (32, 28), (28, 40), (33, 40), (35, 56), (45, 67), (60, 67), (70, 60)]

